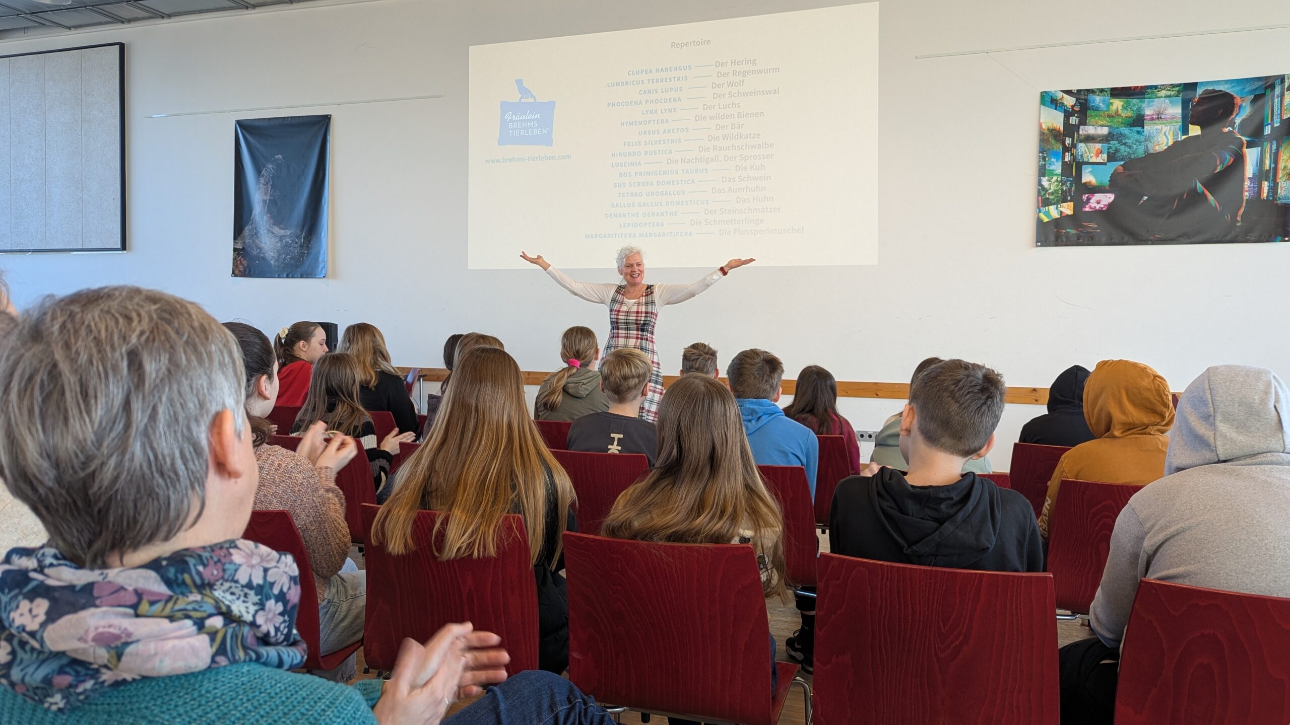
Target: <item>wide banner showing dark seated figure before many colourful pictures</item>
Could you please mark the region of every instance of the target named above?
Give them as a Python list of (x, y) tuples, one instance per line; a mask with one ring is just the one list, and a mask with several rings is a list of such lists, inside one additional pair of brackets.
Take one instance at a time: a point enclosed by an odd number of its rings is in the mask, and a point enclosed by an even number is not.
[(1036, 243), (1286, 241), (1287, 81), (1045, 90)]

